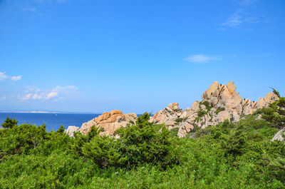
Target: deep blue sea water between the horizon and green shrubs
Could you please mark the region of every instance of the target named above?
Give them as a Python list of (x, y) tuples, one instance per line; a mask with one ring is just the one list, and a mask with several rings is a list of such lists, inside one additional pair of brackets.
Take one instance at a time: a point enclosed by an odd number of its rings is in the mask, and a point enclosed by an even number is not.
[(0, 113), (0, 124), (2, 124), (6, 117), (16, 118), (18, 124), (31, 123), (36, 126), (46, 124), (47, 131), (56, 131), (61, 124), (68, 128), (68, 126), (81, 127), (82, 123), (90, 121), (99, 116), (99, 114), (82, 114), (82, 113)]

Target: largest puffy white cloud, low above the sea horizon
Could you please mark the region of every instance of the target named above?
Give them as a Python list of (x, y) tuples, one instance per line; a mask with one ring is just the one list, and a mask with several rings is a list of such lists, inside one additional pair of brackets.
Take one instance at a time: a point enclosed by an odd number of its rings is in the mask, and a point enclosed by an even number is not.
[(48, 90), (41, 90), (39, 88), (28, 88), (24, 96), (19, 96), (22, 101), (26, 100), (53, 100), (58, 101), (64, 98), (73, 96), (78, 88), (76, 86), (56, 86)]

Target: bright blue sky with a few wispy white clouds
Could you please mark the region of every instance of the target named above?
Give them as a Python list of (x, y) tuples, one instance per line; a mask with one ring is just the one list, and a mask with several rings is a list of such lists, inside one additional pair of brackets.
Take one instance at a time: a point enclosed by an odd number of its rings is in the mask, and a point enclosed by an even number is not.
[(0, 0), (0, 110), (155, 113), (284, 95), (285, 1)]

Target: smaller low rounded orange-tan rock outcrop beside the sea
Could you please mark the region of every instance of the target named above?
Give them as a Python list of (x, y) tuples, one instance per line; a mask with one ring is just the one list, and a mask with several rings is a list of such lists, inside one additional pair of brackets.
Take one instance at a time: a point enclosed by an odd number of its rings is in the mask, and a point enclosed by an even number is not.
[(101, 135), (112, 136), (113, 133), (123, 126), (124, 128), (130, 124), (130, 121), (137, 120), (138, 116), (135, 113), (124, 114), (121, 111), (105, 112), (97, 118), (83, 123), (80, 132), (86, 135), (92, 126), (102, 128)]

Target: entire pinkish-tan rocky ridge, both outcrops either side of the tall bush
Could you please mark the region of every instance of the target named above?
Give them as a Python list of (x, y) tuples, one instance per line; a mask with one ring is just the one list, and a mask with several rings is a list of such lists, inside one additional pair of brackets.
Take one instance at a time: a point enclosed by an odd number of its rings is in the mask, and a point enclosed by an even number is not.
[[(279, 97), (270, 92), (264, 98), (260, 97), (257, 102), (242, 98), (236, 91), (233, 81), (227, 85), (214, 81), (209, 88), (202, 93), (202, 101), (195, 101), (191, 108), (182, 110), (178, 103), (170, 103), (165, 109), (158, 111), (150, 118), (155, 124), (165, 124), (170, 130), (176, 128), (177, 136), (185, 137), (195, 128), (216, 126), (225, 119), (237, 122), (243, 115), (252, 114), (260, 108), (268, 107), (270, 103), (278, 101)], [(115, 110), (105, 112), (97, 118), (83, 123), (81, 128), (69, 128), (66, 133), (73, 136), (73, 132), (80, 131), (86, 135), (92, 126), (101, 128), (101, 135), (114, 136), (115, 131), (123, 126), (127, 127), (130, 122), (135, 123), (138, 116), (135, 113), (124, 114)]]

